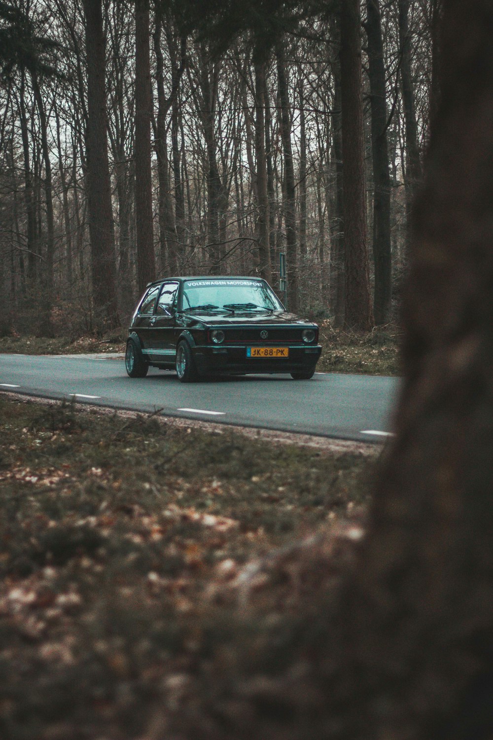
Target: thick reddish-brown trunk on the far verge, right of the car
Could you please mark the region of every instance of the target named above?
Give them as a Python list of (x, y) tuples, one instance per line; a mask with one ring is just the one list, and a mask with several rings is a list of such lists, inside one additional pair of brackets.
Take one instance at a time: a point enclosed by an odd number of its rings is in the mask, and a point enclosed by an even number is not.
[(341, 116), (344, 188), (344, 321), (351, 329), (373, 326), (364, 186), (359, 0), (341, 2)]

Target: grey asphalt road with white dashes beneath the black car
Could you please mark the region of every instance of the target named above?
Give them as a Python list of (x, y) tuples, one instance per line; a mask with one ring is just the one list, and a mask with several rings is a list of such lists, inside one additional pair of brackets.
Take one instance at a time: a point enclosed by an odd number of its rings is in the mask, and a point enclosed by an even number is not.
[(121, 359), (0, 357), (0, 391), (365, 442), (391, 434), (398, 391), (398, 379), (372, 375), (249, 375), (183, 384), (157, 369), (129, 378)]

